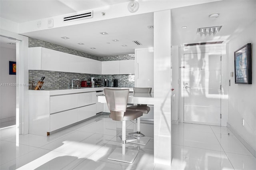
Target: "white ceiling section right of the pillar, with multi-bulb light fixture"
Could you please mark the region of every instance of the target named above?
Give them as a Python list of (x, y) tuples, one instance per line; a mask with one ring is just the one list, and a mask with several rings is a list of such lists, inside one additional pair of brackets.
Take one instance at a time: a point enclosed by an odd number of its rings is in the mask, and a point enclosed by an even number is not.
[[(219, 18), (210, 20), (209, 15), (220, 13)], [(182, 46), (184, 43), (228, 42), (237, 36), (256, 19), (255, 0), (224, 0), (194, 6), (172, 9), (172, 45)], [(187, 26), (182, 29), (182, 26)], [(215, 36), (196, 34), (197, 28), (222, 26)]]

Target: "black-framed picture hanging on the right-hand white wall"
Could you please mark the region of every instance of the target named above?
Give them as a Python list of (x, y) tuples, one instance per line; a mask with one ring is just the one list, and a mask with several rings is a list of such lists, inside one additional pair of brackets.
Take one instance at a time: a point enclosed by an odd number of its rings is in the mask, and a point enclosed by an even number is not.
[(234, 52), (235, 84), (252, 84), (252, 44), (248, 43)]

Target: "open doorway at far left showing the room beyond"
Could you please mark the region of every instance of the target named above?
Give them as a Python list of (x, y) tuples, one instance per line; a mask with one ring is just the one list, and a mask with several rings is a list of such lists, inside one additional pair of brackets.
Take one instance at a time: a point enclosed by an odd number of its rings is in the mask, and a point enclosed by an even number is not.
[(16, 125), (16, 42), (0, 37), (0, 128)]

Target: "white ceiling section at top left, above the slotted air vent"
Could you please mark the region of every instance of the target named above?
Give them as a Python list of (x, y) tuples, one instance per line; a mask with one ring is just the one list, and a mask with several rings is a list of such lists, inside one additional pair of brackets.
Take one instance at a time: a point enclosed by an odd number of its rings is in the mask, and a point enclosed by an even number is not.
[(0, 16), (20, 23), (128, 1), (130, 0), (0, 0)]

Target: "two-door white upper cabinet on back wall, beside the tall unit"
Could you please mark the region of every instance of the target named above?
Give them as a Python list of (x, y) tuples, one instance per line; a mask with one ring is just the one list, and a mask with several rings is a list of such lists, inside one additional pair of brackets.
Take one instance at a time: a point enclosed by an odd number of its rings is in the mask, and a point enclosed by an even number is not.
[(135, 60), (102, 61), (102, 74), (134, 74)]

